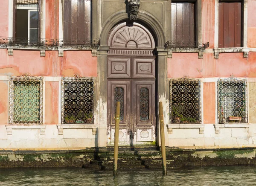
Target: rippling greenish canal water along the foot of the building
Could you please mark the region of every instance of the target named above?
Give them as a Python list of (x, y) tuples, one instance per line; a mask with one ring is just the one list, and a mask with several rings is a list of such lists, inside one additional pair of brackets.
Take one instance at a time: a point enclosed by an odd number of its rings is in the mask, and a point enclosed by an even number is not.
[(80, 168), (0, 169), (0, 186), (255, 186), (256, 166), (168, 170), (90, 171)]

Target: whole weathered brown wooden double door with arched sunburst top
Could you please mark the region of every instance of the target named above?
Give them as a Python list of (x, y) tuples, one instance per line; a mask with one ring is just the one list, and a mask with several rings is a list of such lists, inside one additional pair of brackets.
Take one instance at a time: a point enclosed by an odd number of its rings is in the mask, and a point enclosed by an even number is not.
[(108, 37), (108, 145), (114, 143), (120, 102), (119, 145), (156, 145), (154, 38), (139, 23), (120, 23)]

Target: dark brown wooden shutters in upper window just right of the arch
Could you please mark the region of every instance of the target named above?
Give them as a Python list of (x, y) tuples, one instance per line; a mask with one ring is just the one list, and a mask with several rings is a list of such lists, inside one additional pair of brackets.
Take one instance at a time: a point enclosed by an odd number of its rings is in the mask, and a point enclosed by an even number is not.
[(172, 41), (195, 42), (195, 4), (172, 3)]

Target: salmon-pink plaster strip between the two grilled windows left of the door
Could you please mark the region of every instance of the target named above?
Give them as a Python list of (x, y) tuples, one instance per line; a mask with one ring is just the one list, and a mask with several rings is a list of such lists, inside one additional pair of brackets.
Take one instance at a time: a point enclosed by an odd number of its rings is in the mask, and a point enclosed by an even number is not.
[(45, 124), (58, 123), (58, 103), (59, 103), (59, 83), (58, 81), (45, 81)]

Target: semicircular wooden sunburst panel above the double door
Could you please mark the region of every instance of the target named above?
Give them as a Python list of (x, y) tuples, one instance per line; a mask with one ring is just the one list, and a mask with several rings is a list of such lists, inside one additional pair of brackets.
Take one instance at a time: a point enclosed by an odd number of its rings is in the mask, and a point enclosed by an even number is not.
[(139, 23), (120, 23), (115, 26), (108, 37), (111, 48), (154, 49), (153, 35)]

